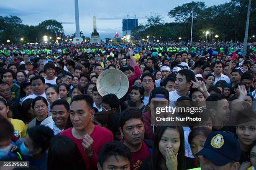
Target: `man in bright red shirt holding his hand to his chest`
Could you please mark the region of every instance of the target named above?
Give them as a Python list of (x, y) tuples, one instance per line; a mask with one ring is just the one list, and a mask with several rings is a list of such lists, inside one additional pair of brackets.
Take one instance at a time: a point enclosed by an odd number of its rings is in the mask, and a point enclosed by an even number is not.
[(106, 128), (94, 125), (93, 100), (88, 95), (77, 95), (72, 98), (70, 120), (74, 128), (61, 132), (61, 135), (74, 140), (79, 148), (87, 170), (97, 168), (98, 154), (105, 143), (113, 141), (112, 133)]

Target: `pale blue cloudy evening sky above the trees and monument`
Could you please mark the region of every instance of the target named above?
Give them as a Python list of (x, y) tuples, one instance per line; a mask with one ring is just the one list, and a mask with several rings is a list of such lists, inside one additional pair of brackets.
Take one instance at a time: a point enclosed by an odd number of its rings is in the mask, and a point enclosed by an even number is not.
[[(202, 0), (207, 6), (219, 5), (229, 0)], [(122, 3), (120, 3), (122, 2)], [(122, 19), (136, 15), (138, 23), (145, 23), (150, 12), (164, 16), (172, 22), (167, 13), (189, 0), (78, 0), (80, 31), (86, 37), (93, 30), (93, 15), (97, 18), (100, 37), (113, 37), (115, 32), (122, 35)], [(61, 22), (66, 35), (75, 32), (74, 0), (1, 0), (0, 15), (16, 15), (24, 24), (38, 25), (44, 20), (56, 19)]]

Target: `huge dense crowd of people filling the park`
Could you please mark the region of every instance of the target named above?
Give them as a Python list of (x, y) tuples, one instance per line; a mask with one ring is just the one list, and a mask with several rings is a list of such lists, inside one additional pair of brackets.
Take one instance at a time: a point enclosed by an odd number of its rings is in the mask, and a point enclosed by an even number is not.
[[(241, 48), (2, 44), (0, 160), (38, 170), (254, 170), (256, 45), (245, 57)], [(107, 69), (128, 77), (122, 98), (98, 91)], [(204, 123), (156, 125), (157, 102), (202, 107)]]

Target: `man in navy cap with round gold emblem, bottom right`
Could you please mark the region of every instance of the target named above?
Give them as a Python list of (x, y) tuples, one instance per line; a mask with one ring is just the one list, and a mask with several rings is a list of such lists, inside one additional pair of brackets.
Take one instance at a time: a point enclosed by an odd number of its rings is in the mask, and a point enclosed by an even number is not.
[(215, 131), (197, 155), (202, 155), (201, 170), (238, 170), (241, 147), (232, 133)]

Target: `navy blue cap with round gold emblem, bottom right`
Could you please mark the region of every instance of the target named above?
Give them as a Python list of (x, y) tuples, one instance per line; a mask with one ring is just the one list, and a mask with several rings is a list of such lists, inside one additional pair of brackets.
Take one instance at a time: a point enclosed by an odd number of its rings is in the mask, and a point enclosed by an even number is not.
[(224, 166), (231, 161), (239, 161), (241, 147), (232, 133), (215, 131), (209, 134), (204, 148), (197, 155), (203, 155), (217, 166)]

